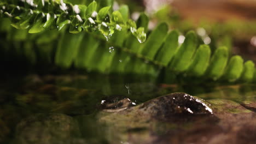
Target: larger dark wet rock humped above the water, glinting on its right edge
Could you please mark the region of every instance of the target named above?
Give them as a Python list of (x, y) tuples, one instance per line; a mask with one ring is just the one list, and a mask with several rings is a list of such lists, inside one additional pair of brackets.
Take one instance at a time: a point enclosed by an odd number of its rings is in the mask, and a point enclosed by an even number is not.
[(167, 118), (172, 115), (212, 114), (205, 101), (186, 93), (172, 93), (142, 104), (139, 109), (153, 117)]

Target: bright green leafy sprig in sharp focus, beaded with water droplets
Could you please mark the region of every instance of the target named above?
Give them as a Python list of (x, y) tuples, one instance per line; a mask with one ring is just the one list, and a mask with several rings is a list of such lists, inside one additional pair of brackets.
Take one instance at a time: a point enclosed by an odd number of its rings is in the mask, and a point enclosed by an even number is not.
[(0, 16), (9, 17), (11, 25), (18, 29), (29, 29), (28, 33), (40, 33), (46, 29), (69, 26), (70, 33), (100, 31), (108, 40), (115, 31), (130, 30), (143, 43), (146, 40), (144, 28), (128, 19), (129, 11), (124, 5), (119, 11), (109, 14), (110, 6), (97, 11), (97, 2), (88, 6), (73, 5), (61, 1), (5, 1), (0, 2)]

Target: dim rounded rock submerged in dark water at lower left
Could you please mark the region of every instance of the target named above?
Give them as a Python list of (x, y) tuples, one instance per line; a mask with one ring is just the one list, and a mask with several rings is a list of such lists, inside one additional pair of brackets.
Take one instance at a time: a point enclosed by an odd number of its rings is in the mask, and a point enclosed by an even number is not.
[(37, 114), (18, 124), (13, 143), (66, 143), (78, 135), (78, 131), (72, 117), (58, 113)]

